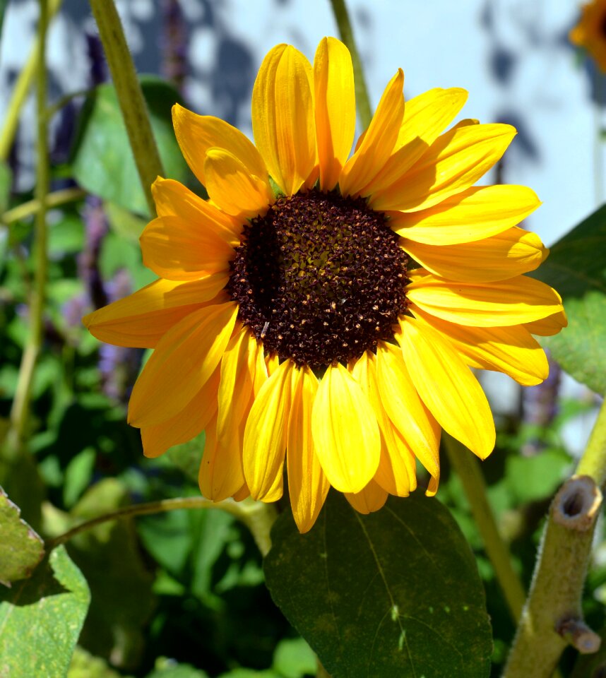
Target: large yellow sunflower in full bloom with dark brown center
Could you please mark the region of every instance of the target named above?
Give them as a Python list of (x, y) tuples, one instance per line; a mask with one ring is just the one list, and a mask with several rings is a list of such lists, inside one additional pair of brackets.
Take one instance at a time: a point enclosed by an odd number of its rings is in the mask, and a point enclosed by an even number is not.
[(465, 120), (465, 90), (404, 103), (388, 83), (357, 141), (352, 61), (324, 38), (314, 65), (286, 44), (261, 65), (255, 143), (218, 118), (173, 109), (177, 140), (210, 198), (153, 184), (141, 235), (158, 276), (85, 317), (100, 340), (153, 349), (129, 423), (155, 457), (206, 430), (201, 492), (275, 501), (299, 530), (329, 487), (362, 513), (439, 482), (441, 429), (480, 458), (494, 422), (470, 368), (537, 384), (533, 338), (565, 324), (545, 258), (516, 224), (524, 186), (473, 186), (516, 131)]

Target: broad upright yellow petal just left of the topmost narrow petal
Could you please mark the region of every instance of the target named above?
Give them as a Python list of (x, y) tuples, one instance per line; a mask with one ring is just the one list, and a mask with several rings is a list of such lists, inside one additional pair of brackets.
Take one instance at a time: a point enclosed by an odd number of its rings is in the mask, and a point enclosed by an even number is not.
[(312, 87), (309, 61), (286, 44), (267, 54), (254, 83), (254, 140), (287, 196), (297, 193), (316, 164)]

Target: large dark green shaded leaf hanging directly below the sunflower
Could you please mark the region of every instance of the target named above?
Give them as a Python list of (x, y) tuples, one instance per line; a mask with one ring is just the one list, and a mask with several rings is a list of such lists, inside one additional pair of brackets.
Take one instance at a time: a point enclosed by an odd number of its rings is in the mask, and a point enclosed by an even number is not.
[(484, 678), (492, 637), (475, 561), (436, 499), (390, 497), (369, 516), (331, 492), (299, 535), (272, 530), (266, 583), (333, 678)]

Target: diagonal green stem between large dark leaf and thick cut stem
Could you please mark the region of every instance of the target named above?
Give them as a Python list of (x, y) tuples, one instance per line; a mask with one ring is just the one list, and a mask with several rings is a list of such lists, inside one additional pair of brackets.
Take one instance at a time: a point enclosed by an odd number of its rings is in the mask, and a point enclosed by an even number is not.
[(499, 534), (497, 521), (487, 499), (486, 482), (480, 464), (473, 454), (458, 440), (444, 432), (444, 446), (448, 459), (463, 484), (471, 506), (486, 553), (494, 567), (494, 573), (505, 596), (507, 607), (515, 622), (520, 618), (524, 605), (524, 588), (511, 565), (509, 549)]

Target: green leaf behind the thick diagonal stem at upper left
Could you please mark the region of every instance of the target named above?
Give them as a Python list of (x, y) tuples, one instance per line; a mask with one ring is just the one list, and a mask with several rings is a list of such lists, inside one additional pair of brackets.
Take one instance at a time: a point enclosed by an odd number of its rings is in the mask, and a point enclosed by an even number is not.
[[(181, 97), (172, 85), (155, 76), (143, 76), (141, 88), (166, 175), (186, 182), (191, 175), (171, 121), (172, 105)], [(78, 184), (90, 193), (149, 215), (113, 85), (100, 85), (89, 95), (71, 165)]]

